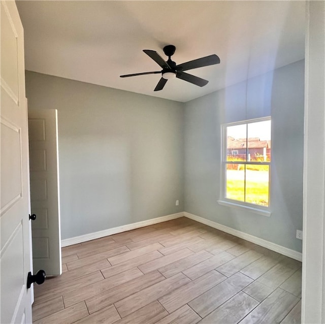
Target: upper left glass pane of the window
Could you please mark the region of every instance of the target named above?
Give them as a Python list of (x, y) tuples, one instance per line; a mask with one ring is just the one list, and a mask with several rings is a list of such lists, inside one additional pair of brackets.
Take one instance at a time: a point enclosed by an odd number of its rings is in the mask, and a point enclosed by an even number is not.
[(226, 127), (226, 159), (228, 161), (246, 161), (247, 124)]

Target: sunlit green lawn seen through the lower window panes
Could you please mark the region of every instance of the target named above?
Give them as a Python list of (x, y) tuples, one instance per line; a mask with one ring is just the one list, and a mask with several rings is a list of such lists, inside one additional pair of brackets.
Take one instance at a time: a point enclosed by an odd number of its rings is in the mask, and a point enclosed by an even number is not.
[[(227, 170), (226, 198), (245, 201), (244, 170)], [(269, 206), (269, 172), (246, 170), (246, 202)]]

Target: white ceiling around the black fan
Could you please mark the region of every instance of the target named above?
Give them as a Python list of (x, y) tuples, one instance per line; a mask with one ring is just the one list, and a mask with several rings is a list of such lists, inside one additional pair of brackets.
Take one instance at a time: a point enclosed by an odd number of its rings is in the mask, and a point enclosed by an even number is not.
[[(16, 1), (25, 32), (25, 68), (186, 102), (304, 58), (304, 1)], [(186, 71), (198, 87), (160, 75), (143, 49), (172, 44), (177, 64), (210, 54), (221, 63)]]

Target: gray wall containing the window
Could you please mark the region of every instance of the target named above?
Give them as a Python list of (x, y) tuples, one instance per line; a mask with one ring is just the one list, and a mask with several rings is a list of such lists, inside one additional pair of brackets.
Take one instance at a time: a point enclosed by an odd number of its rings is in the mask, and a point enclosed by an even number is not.
[[(269, 115), (271, 217), (219, 205), (221, 124)], [(186, 103), (185, 211), (301, 251), (303, 118), (303, 60)]]

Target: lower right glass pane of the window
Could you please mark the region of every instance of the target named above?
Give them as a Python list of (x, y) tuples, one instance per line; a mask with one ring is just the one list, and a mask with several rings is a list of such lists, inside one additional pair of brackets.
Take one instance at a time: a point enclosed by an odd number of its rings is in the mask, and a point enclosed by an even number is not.
[(269, 166), (246, 165), (246, 202), (269, 206)]

